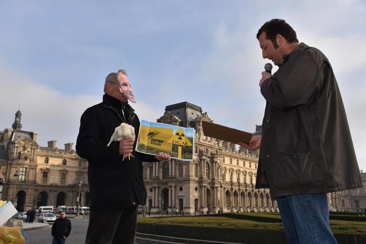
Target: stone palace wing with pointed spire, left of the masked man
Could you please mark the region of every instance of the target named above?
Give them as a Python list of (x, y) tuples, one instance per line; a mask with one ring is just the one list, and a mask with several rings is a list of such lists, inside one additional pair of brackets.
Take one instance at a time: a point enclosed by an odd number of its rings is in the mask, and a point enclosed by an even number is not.
[(0, 177), (5, 184), (1, 199), (16, 203), (18, 211), (38, 206), (89, 205), (87, 161), (80, 158), (73, 143), (58, 149), (56, 141), (39, 146), (37, 133), (23, 131), (22, 113), (15, 114), (12, 129), (0, 131)]

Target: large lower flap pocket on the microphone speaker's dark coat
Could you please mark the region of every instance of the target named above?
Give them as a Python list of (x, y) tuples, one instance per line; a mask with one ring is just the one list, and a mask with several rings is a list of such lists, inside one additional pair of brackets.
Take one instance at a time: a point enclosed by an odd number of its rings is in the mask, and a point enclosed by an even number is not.
[(278, 188), (318, 186), (324, 181), (311, 150), (278, 146), (274, 184)]

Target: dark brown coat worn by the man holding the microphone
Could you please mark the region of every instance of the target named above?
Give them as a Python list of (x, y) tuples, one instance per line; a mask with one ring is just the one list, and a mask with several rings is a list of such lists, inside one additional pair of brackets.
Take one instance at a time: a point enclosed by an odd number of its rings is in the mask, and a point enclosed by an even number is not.
[(256, 188), (272, 199), (362, 187), (352, 138), (332, 67), (301, 43), (266, 79), (267, 101)]

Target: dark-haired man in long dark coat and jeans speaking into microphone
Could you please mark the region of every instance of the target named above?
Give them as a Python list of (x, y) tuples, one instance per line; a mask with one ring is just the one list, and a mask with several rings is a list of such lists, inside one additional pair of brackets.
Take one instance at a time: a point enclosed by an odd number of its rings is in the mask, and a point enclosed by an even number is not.
[(362, 180), (332, 67), (284, 20), (266, 22), (257, 39), (279, 69), (262, 72), (259, 82), (267, 102), (262, 136), (238, 144), (260, 148), (256, 189), (269, 187), (277, 200), (288, 242), (337, 243), (326, 193), (362, 187)]

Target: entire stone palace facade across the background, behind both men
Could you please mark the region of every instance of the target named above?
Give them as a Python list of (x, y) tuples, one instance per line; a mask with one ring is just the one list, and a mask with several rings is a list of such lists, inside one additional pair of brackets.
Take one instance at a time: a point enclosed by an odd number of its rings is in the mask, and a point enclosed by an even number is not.
[[(80, 205), (89, 206), (87, 160), (76, 154), (73, 143), (64, 149), (55, 140), (39, 146), (37, 133), (21, 130), (21, 117), (18, 111), (12, 129), (0, 131), (1, 199), (16, 202), (18, 211), (75, 206), (78, 195)], [(147, 199), (141, 208), (151, 214), (278, 211), (269, 189), (254, 189), (258, 150), (206, 137), (202, 121), (212, 122), (192, 103), (166, 107), (157, 122), (195, 128), (194, 160), (144, 163)], [(254, 134), (260, 133), (261, 126), (256, 126)], [(366, 173), (362, 177), (364, 188), (328, 194), (331, 211), (365, 211)]]

